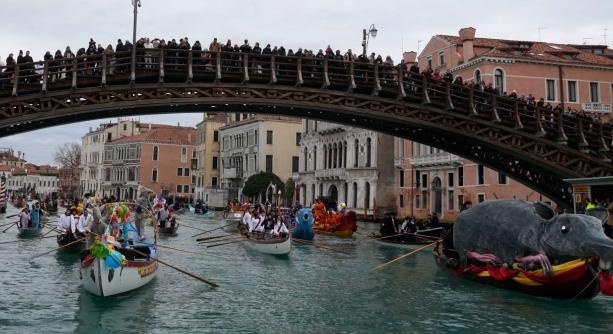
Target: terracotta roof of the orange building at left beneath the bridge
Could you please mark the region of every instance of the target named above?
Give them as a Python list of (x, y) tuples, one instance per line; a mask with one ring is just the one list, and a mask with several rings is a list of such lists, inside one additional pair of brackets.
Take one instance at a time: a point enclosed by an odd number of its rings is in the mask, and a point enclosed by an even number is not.
[(196, 129), (191, 127), (160, 126), (152, 127), (151, 131), (111, 141), (111, 144), (150, 142), (160, 144), (195, 145)]

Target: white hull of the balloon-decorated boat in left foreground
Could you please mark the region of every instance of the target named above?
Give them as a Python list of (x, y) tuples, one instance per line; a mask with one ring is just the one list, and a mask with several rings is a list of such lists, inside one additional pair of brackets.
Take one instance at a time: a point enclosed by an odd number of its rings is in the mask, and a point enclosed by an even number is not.
[(104, 260), (93, 259), (82, 266), (83, 288), (101, 296), (112, 296), (140, 288), (149, 283), (157, 274), (155, 260), (130, 261), (127, 266), (111, 269)]

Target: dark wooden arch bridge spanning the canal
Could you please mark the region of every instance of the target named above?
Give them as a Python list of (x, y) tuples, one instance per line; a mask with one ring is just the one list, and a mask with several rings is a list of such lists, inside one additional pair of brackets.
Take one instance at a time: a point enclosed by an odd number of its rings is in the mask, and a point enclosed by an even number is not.
[[(505, 172), (559, 204), (565, 178), (613, 175), (613, 129), (402, 66), (137, 49), (1, 68), (0, 137), (104, 117), (249, 112), (376, 130)], [(1, 72), (1, 71), (0, 71)]]

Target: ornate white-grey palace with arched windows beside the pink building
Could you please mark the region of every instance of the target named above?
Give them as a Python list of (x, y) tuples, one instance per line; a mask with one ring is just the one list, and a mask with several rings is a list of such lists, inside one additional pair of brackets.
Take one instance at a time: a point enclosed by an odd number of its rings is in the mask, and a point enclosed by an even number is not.
[(344, 125), (303, 120), (297, 197), (328, 197), (365, 216), (395, 211), (394, 138)]

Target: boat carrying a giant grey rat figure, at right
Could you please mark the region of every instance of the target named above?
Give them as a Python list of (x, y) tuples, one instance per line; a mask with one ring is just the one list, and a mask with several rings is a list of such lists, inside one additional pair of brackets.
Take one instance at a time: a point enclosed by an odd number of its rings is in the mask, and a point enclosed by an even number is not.
[(613, 296), (604, 220), (556, 215), (541, 203), (484, 202), (460, 213), (433, 253), (455, 276), (495, 287), (559, 299)]

